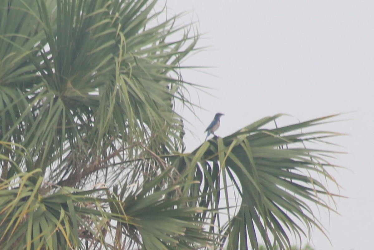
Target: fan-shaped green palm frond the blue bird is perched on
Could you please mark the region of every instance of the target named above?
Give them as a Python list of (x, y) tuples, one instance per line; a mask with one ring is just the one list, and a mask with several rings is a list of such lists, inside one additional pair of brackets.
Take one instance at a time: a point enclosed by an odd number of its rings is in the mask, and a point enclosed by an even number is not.
[[(215, 210), (203, 216), (218, 226), (211, 227), (211, 232), (220, 235), (218, 241), (226, 243), (227, 249), (258, 249), (260, 238), (268, 249), (288, 249), (289, 234), (300, 238), (313, 228), (324, 232), (312, 205), (334, 211), (336, 195), (329, 192), (325, 180), (337, 185), (328, 171), (336, 167), (328, 162), (336, 152), (309, 146), (339, 134), (303, 132), (332, 116), (266, 128), (280, 116), (213, 138), (190, 155), (171, 157), (184, 177), (199, 182), (184, 193), (201, 195), (197, 204)], [(230, 207), (236, 207), (234, 214)], [(226, 219), (221, 213), (227, 214)]]

